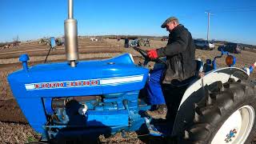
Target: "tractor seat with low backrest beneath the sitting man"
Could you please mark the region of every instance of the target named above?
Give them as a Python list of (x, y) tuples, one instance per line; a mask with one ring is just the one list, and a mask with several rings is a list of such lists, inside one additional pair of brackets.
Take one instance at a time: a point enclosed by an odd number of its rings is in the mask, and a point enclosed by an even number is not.
[(174, 79), (170, 84), (172, 86), (178, 86), (178, 87), (189, 86), (191, 83), (198, 80), (198, 78), (202, 78), (204, 76), (204, 72), (202, 72), (204, 62), (202, 62), (201, 60), (195, 60), (195, 61), (197, 62), (197, 69), (194, 76), (187, 78), (182, 82), (178, 81), (177, 79)]

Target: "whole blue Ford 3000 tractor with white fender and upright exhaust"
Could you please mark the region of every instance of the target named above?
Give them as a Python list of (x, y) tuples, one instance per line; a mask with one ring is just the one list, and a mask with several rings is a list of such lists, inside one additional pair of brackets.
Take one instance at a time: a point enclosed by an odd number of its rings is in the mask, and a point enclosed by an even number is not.
[(166, 120), (150, 119), (144, 115), (150, 110), (143, 94), (150, 73), (146, 66), (150, 61), (164, 66), (165, 58), (152, 60), (146, 51), (134, 47), (145, 58), (141, 65), (134, 64), (131, 54), (78, 62), (72, 0), (68, 7), (67, 62), (28, 66), (30, 58), (22, 54), (22, 70), (8, 76), (14, 98), (30, 126), (42, 134), (42, 141), (84, 141), (120, 131), (145, 131), (174, 143), (252, 141), (256, 87), (249, 75), (256, 64), (234, 67), (234, 56), (224, 51), (227, 67), (217, 69), (216, 60), (222, 55), (206, 63), (197, 61), (194, 77), (163, 86), (169, 106)]

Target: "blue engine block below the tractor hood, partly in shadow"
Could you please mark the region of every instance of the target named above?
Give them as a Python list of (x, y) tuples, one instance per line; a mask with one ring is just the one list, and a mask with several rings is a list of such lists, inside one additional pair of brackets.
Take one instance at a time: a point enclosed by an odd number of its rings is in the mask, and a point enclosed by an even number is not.
[(51, 126), (128, 126), (138, 114), (138, 91), (43, 99)]

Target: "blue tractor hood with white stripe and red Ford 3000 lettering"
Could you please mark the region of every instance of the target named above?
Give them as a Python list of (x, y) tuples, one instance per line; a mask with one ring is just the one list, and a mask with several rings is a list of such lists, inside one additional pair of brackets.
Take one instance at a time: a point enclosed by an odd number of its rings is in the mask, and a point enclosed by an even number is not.
[[(24, 66), (23, 66), (24, 67)], [(113, 94), (141, 90), (149, 70), (134, 65), (130, 54), (96, 61), (39, 64), (8, 76), (16, 98)]]

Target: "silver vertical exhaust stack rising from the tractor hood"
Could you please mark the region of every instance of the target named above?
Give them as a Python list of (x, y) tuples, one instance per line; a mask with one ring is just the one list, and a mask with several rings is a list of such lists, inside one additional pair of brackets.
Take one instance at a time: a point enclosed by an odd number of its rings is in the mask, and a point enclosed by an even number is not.
[(68, 18), (64, 22), (66, 60), (71, 67), (78, 60), (78, 22), (73, 18), (73, 0), (68, 0)]

